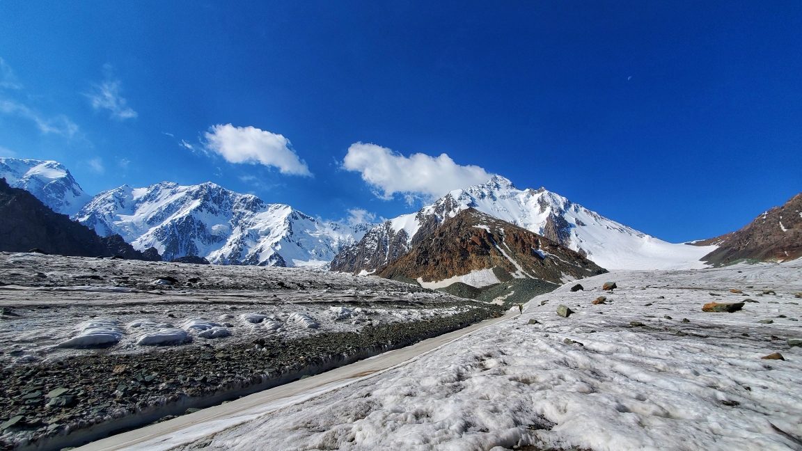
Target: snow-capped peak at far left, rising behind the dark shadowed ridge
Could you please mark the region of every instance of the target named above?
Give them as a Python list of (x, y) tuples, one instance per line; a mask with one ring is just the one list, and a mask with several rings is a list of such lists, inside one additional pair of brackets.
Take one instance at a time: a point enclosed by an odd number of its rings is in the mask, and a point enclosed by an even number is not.
[(25, 189), (56, 213), (73, 215), (91, 199), (58, 161), (0, 158), (0, 177)]

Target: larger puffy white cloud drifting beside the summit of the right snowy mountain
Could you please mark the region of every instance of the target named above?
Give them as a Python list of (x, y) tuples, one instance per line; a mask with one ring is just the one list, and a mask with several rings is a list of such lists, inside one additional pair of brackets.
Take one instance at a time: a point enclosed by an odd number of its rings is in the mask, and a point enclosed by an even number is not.
[(362, 173), (362, 180), (377, 189), (376, 196), (387, 200), (401, 193), (410, 203), (415, 197), (440, 197), (491, 177), (479, 166), (457, 165), (445, 153), (436, 158), (414, 153), (407, 158), (389, 148), (363, 143), (350, 145), (342, 167)]

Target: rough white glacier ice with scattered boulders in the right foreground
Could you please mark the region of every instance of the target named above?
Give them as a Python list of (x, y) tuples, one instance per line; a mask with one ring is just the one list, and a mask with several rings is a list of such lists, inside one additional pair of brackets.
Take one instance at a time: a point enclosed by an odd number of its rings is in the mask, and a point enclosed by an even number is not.
[[(179, 449), (800, 449), (802, 347), (785, 341), (802, 337), (800, 274), (797, 261), (583, 279), (585, 291), (566, 284), (518, 319), (241, 424), (209, 425)], [(607, 281), (618, 290), (601, 291)], [(598, 295), (608, 304), (590, 304)], [(744, 299), (759, 302), (701, 311)], [(558, 304), (575, 312), (561, 318)], [(761, 359), (778, 351), (786, 360)]]

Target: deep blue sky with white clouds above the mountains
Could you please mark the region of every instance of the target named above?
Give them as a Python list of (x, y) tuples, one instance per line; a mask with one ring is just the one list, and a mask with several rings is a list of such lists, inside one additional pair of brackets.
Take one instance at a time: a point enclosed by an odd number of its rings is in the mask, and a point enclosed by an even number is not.
[(498, 173), (709, 238), (802, 191), (802, 4), (739, 3), (0, 0), (0, 152), (332, 219)]

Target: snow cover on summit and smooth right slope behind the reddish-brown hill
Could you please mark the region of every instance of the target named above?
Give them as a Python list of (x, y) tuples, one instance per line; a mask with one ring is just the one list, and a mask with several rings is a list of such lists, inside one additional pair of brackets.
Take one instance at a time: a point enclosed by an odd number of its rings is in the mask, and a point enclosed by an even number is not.
[[(455, 207), (449, 205), (456, 203)], [(717, 246), (690, 246), (670, 243), (634, 230), (586, 209), (547, 189), (517, 189), (500, 176), (468, 189), (456, 189), (420, 210), (438, 214), (440, 220), (454, 217), (463, 209), (475, 208), (501, 220), (543, 234), (549, 217), (562, 217), (569, 225), (568, 247), (584, 250), (590, 260), (606, 270), (701, 269), (699, 261)], [(444, 209), (444, 213), (436, 213)], [(396, 232), (403, 229), (407, 239), (419, 230), (419, 213), (391, 219)]]

